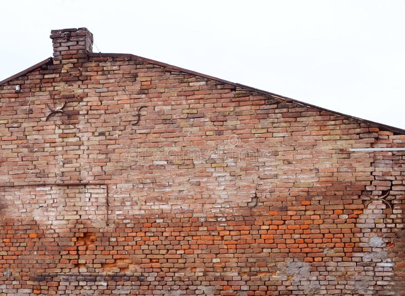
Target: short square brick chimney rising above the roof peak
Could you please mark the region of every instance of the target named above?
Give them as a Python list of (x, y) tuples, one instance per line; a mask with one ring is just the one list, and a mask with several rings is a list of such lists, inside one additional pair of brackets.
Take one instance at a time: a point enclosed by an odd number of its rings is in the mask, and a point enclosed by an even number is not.
[(50, 37), (54, 64), (84, 62), (93, 52), (93, 34), (86, 28), (52, 30)]

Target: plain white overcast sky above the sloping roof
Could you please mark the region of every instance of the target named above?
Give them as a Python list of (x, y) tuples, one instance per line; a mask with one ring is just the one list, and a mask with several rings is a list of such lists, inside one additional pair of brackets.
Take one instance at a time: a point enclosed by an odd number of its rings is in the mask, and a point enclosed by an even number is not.
[(128, 53), (405, 129), (405, 1), (2, 1), (0, 80), (87, 27)]

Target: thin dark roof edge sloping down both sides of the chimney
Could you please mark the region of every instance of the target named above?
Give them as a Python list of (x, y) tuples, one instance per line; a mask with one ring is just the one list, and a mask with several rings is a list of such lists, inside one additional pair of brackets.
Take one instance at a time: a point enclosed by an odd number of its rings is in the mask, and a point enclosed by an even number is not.
[[(167, 68), (168, 70), (172, 70), (172, 71), (174, 70), (174, 71), (178, 71), (178, 72), (181, 72), (181, 73), (190, 74), (190, 75), (199, 76), (199, 77), (207, 78), (207, 79), (210, 79), (210, 80), (218, 81), (218, 82), (221, 82), (221, 83), (224, 83), (224, 84), (233, 85), (233, 86), (241, 88), (241, 89), (254, 91), (254, 92), (258, 92), (258, 93), (261, 93), (261, 94), (264, 94), (264, 95), (267, 95), (267, 96), (278, 98), (280, 100), (286, 101), (287, 103), (296, 103), (298, 105), (302, 105), (302, 106), (305, 106), (305, 107), (318, 109), (318, 110), (325, 111), (325, 112), (328, 112), (328, 113), (332, 113), (332, 114), (335, 114), (335, 115), (339, 115), (339, 116), (347, 117), (347, 118), (350, 118), (350, 119), (354, 119), (354, 120), (357, 120), (357, 121), (362, 121), (362, 122), (368, 123), (370, 125), (378, 126), (378, 127), (381, 127), (383, 129), (386, 129), (386, 130), (389, 130), (389, 131), (392, 131), (392, 132), (405, 134), (405, 129), (401, 129), (401, 128), (390, 126), (390, 125), (387, 125), (387, 124), (383, 124), (383, 123), (379, 123), (379, 122), (375, 122), (375, 121), (371, 121), (371, 120), (367, 120), (367, 119), (358, 118), (358, 117), (351, 116), (351, 115), (348, 115), (348, 114), (336, 112), (336, 111), (329, 110), (329, 109), (326, 109), (326, 108), (322, 108), (322, 107), (319, 107), (319, 106), (316, 106), (316, 105), (312, 105), (312, 104), (309, 104), (309, 103), (294, 100), (293, 98), (290, 98), (290, 97), (287, 97), (287, 96), (284, 96), (284, 95), (279, 95), (279, 94), (276, 94), (276, 93), (273, 93), (273, 92), (269, 92), (269, 91), (265, 91), (265, 90), (262, 90), (262, 89), (254, 88), (254, 87), (247, 86), (247, 85), (244, 85), (244, 84), (227, 81), (227, 80), (217, 78), (217, 77), (214, 77), (214, 76), (206, 75), (206, 74), (203, 74), (203, 73), (198, 73), (198, 72), (195, 72), (195, 71), (191, 71), (191, 70), (188, 70), (188, 69), (180, 68), (180, 67), (177, 67), (177, 66), (173, 66), (173, 65), (170, 65), (170, 64), (158, 62), (158, 61), (155, 61), (155, 60), (143, 58), (143, 57), (132, 55), (132, 54), (90, 53), (89, 57), (92, 57), (92, 58), (97, 58), (97, 57), (99, 57), (99, 58), (122, 58), (122, 57), (124, 57), (124, 58), (136, 59), (136, 60), (144, 61), (146, 63), (150, 63), (150, 64), (153, 64), (153, 65), (157, 65), (157, 66), (160, 66), (160, 67)], [(3, 81), (0, 81), (0, 85), (4, 85), (5, 83), (9, 82), (10, 80), (13, 80), (13, 79), (18, 78), (18, 77), (20, 77), (22, 75), (25, 75), (25, 74), (31, 72), (32, 70), (35, 70), (36, 68), (47, 64), (50, 61), (52, 61), (52, 58), (48, 58), (48, 59), (46, 59), (46, 60), (44, 60), (42, 62), (39, 62), (39, 63), (33, 65), (32, 67), (29, 67), (29, 68), (15, 74), (15, 75), (11, 76), (11, 77), (9, 77), (9, 78), (4, 79)]]

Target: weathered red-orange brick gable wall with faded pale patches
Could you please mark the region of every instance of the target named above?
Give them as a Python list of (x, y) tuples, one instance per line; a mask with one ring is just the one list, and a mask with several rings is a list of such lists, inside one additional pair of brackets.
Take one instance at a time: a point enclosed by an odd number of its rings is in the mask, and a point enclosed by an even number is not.
[(403, 294), (405, 152), (344, 149), (404, 135), (63, 51), (0, 86), (0, 294)]

